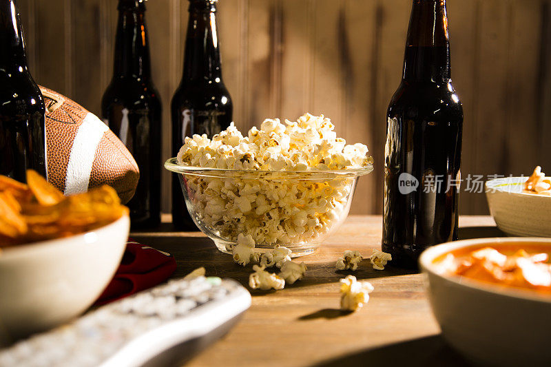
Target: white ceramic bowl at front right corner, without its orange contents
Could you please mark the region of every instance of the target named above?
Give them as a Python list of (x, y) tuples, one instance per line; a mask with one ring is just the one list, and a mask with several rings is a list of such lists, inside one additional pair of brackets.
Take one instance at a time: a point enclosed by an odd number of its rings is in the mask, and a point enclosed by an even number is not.
[(484, 238), (439, 244), (419, 258), (428, 298), (444, 338), (484, 366), (549, 366), (551, 361), (551, 297), (502, 288), (454, 275), (440, 275), (433, 260), (463, 247), (499, 243), (542, 244), (546, 238)]

